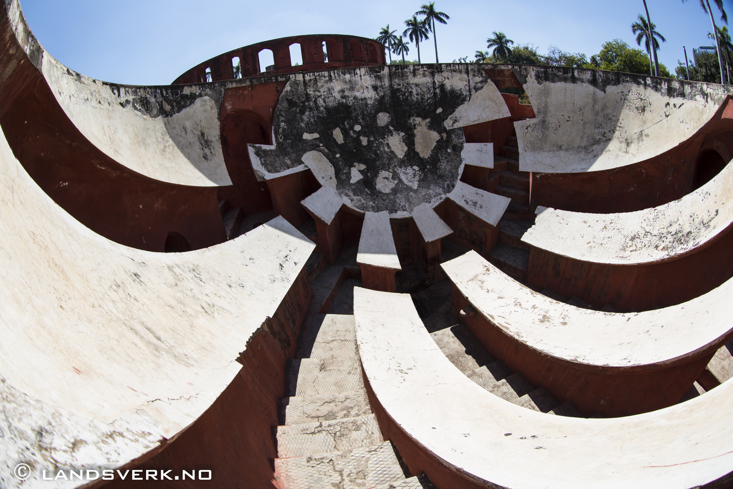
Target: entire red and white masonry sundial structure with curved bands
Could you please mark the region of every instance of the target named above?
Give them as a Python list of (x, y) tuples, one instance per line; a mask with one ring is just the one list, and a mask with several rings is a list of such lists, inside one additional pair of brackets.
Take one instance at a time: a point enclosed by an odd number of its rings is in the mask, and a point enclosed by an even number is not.
[(0, 29), (0, 487), (731, 484), (730, 86)]

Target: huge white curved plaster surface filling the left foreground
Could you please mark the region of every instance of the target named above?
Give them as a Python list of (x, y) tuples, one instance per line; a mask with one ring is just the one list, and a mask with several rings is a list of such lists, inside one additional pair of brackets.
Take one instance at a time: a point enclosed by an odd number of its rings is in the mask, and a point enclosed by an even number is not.
[(17, 463), (115, 468), (194, 422), (315, 247), (278, 217), (208, 249), (132, 249), (56, 205), (1, 133), (0, 174), (3, 487)]

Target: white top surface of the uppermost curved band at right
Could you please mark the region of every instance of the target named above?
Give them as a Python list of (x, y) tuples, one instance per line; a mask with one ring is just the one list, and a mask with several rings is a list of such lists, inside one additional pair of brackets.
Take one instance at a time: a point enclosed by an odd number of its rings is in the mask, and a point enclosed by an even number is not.
[(673, 260), (733, 224), (733, 165), (682, 199), (630, 213), (575, 213), (537, 207), (522, 240), (565, 257), (617, 265)]

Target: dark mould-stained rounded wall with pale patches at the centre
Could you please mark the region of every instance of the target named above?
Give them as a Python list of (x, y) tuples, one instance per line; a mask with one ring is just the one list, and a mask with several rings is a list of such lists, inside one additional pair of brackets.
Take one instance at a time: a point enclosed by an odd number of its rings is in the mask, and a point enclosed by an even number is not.
[[(498, 89), (473, 66), (298, 74), (276, 106), (273, 145), (250, 144), (250, 157), (263, 179), (310, 169), (359, 210), (409, 213), (453, 190), (463, 125), (508, 116)], [(469, 153), (482, 165), (493, 161)]]

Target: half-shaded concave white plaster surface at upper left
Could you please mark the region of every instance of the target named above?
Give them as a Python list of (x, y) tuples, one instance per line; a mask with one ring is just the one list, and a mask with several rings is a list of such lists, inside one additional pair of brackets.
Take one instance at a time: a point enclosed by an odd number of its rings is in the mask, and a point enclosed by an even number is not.
[[(163, 182), (232, 185), (221, 151), (218, 107), (204, 89), (196, 89), (198, 98), (177, 114), (152, 116), (134, 99), (156, 106), (158, 87), (111, 86), (68, 70), (45, 51), (42, 70), (75, 127), (118, 163)], [(177, 94), (183, 87), (166, 90)]]

